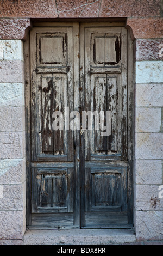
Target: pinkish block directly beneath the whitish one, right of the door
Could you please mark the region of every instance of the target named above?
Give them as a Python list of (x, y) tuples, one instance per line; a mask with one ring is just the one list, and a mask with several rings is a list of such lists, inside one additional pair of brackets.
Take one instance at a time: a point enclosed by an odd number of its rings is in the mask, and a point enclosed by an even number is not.
[(136, 84), (136, 107), (163, 107), (163, 83)]

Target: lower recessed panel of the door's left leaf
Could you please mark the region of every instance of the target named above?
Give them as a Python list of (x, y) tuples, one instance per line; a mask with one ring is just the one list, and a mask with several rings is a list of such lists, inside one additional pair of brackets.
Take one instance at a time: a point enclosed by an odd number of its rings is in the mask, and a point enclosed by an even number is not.
[(73, 212), (73, 168), (33, 168), (32, 175), (33, 212)]

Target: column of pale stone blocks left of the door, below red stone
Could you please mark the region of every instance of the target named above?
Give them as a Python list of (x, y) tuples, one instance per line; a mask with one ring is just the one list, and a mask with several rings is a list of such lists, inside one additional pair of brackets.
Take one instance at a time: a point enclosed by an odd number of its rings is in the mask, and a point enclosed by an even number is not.
[[(21, 40), (0, 40), (0, 244), (25, 230), (24, 58)], [(12, 243), (12, 240), (10, 240)]]

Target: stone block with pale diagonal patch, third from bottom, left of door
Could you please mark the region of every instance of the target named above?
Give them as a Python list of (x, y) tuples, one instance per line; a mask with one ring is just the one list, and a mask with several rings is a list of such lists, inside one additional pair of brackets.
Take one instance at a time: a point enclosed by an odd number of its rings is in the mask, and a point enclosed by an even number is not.
[(0, 159), (0, 184), (22, 184), (25, 181), (24, 159)]

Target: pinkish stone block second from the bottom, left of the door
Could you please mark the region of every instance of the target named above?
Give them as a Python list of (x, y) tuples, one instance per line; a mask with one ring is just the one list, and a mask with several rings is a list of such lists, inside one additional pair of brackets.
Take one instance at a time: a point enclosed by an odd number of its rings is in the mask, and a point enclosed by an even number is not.
[(3, 198), (0, 200), (0, 211), (21, 211), (24, 209), (26, 202), (24, 200), (24, 184), (3, 185)]

